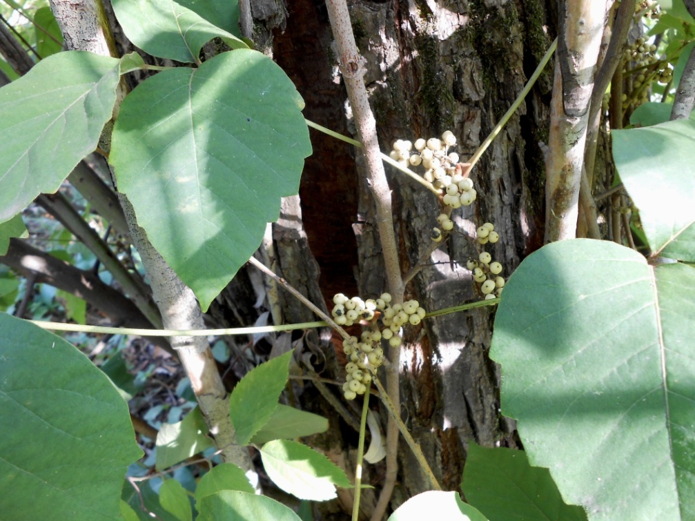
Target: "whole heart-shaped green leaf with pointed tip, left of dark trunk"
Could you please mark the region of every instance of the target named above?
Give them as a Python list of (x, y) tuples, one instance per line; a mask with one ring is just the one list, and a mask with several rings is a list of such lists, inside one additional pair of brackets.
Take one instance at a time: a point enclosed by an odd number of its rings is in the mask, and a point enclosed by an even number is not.
[(246, 49), (161, 72), (121, 106), (118, 189), (204, 311), (297, 193), (311, 153), (302, 107), (286, 74)]

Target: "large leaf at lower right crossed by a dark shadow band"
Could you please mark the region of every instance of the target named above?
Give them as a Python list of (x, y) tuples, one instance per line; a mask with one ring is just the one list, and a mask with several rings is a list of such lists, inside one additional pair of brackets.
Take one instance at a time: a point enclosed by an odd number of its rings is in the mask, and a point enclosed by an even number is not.
[(695, 518), (695, 270), (612, 242), (528, 256), (497, 311), (502, 413), (590, 519)]

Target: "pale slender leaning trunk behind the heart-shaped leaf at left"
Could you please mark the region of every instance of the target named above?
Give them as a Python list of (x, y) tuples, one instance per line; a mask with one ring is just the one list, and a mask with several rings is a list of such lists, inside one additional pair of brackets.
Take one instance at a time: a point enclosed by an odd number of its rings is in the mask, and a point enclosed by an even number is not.
[[(104, 6), (98, 0), (51, 0), (51, 9), (58, 20), (69, 49), (92, 51), (104, 56), (117, 56), (108, 26)], [(124, 81), (117, 88), (114, 114), (125, 97)], [(113, 122), (106, 124), (100, 140), (101, 149), (108, 153), (111, 145)], [(118, 194), (128, 223), (133, 244), (138, 249), (142, 264), (152, 285), (165, 329), (204, 329), (202, 312), (193, 291), (190, 290), (164, 259), (152, 247), (145, 231), (138, 226), (133, 207), (122, 194)], [(190, 378), (200, 409), (205, 417), (215, 445), (222, 450), (224, 461), (235, 463), (248, 472), (253, 464), (245, 447), (236, 445), (234, 425), (229, 418), (227, 392), (220, 373), (204, 337), (175, 337), (172, 347)]]

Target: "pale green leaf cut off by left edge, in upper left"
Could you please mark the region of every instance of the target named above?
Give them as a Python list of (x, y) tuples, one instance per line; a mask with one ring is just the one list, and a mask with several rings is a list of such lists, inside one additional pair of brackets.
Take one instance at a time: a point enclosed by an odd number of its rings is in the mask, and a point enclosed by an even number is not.
[(0, 222), (58, 190), (97, 147), (116, 100), (117, 65), (108, 56), (62, 52), (0, 89)]

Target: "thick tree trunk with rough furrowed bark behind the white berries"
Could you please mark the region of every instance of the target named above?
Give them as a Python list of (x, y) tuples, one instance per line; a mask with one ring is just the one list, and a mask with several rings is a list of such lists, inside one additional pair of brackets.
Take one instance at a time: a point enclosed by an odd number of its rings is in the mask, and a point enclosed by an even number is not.
[[(325, 5), (290, 0), (284, 31), (276, 31), (274, 57), (300, 90), (307, 119), (334, 131), (354, 134), (346, 95), (337, 73)], [(461, 160), (512, 104), (555, 37), (554, 23), (540, 1), (354, 2), (351, 17), (365, 82), (377, 117), (382, 150), (396, 139), (430, 138), (452, 130)], [(550, 28), (548, 28), (550, 25)], [(525, 104), (473, 170), (477, 202), (455, 210), (457, 229), (473, 233), (493, 222), (500, 233), (494, 247), (475, 247), (454, 233), (407, 287), (428, 311), (480, 299), (473, 290), (468, 258), (482, 249), (509, 276), (523, 256), (543, 242), (543, 154), (548, 133), (552, 67), (541, 76)], [(306, 160), (300, 190), (309, 245), (320, 266), (320, 290), (329, 301), (335, 292), (377, 297), (386, 289), (374, 206), (363, 182), (359, 154), (345, 144), (311, 132), (313, 155)], [(357, 156), (357, 161), (354, 159)], [(432, 193), (390, 169), (402, 271), (407, 272), (430, 247), (440, 213)], [(283, 251), (286, 245), (278, 245)], [(493, 310), (443, 315), (425, 320), (404, 339), (401, 355), (402, 418), (420, 443), (444, 488), (458, 490), (468, 443), (517, 447), (514, 424), (500, 415), (498, 367), (487, 356)], [(341, 379), (331, 350), (322, 376)], [(338, 355), (339, 357), (340, 355)], [(337, 368), (337, 369), (336, 369)], [(337, 370), (337, 373), (332, 371)], [(341, 399), (338, 389), (331, 389)], [(338, 420), (332, 406), (319, 403), (305, 388), (305, 408), (332, 417), (321, 443), (334, 461), (357, 436)], [(351, 406), (352, 404), (348, 404)], [(380, 411), (385, 428), (386, 411)], [(350, 447), (345, 450), (345, 447)], [(378, 486), (383, 463), (368, 465), (366, 482)], [(399, 486), (392, 506), (429, 488), (410, 449), (400, 444)], [(368, 513), (373, 496), (365, 498)], [(324, 505), (323, 516), (340, 510)]]

